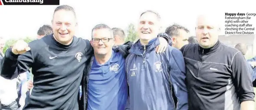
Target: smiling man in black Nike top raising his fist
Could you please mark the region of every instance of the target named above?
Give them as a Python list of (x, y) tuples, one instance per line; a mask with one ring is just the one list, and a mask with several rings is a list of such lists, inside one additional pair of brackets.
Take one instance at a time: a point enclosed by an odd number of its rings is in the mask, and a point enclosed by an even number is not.
[(54, 34), (32, 41), (28, 47), (18, 41), (7, 50), (1, 62), (2, 77), (16, 78), (30, 68), (34, 75), (34, 88), (23, 110), (79, 109), (79, 85), (93, 49), (89, 40), (74, 36), (74, 15), (71, 6), (58, 6), (53, 15)]

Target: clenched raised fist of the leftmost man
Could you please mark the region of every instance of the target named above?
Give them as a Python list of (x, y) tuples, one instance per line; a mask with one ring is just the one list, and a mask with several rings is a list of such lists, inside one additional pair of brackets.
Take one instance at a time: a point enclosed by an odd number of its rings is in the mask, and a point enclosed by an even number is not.
[(28, 45), (28, 43), (26, 43), (25, 41), (23, 40), (18, 40), (14, 45), (13, 45), (13, 48), (12, 48), (12, 52), (13, 54), (15, 55), (18, 55), (18, 54), (23, 54), (27, 51), (30, 51), (30, 47)]

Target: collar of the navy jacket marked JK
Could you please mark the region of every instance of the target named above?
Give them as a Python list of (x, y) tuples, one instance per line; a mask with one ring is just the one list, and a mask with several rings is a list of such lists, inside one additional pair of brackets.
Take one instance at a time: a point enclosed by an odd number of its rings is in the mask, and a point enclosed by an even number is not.
[[(160, 44), (158, 38), (154, 38), (151, 41), (148, 42), (148, 45), (145, 45), (146, 52), (151, 52)], [(131, 46), (130, 53), (136, 54), (136, 55), (142, 55), (144, 52), (144, 45), (141, 44), (140, 40), (135, 42), (134, 45)]]

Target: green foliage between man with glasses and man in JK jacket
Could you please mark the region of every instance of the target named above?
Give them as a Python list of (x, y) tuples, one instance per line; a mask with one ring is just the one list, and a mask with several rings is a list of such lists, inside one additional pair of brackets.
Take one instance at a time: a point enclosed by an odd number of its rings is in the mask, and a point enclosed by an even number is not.
[(127, 30), (127, 37), (125, 38), (125, 42), (135, 42), (135, 40), (137, 40), (138, 38), (138, 33), (135, 29), (135, 26), (131, 23), (129, 26), (128, 26), (128, 30)]

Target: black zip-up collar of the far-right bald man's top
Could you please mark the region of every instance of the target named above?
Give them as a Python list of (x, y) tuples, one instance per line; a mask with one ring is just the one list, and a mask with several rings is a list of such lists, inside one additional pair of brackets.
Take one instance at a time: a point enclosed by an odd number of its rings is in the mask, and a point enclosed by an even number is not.
[(208, 49), (204, 49), (202, 48), (199, 44), (198, 44), (198, 51), (200, 53), (200, 55), (209, 55), (213, 52), (216, 52), (217, 49), (220, 47), (220, 41), (218, 40), (216, 42), (216, 44), (214, 44), (212, 47), (208, 48)]

